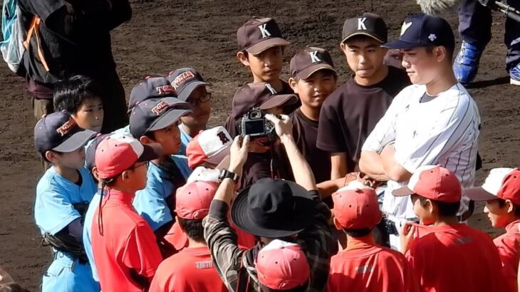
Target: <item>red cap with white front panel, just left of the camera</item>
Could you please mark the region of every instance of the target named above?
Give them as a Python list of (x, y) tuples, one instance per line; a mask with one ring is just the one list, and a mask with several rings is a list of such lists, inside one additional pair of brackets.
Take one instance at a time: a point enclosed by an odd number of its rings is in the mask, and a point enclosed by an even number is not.
[(189, 168), (194, 169), (202, 162), (218, 165), (224, 160), (224, 157), (229, 155), (232, 143), (233, 138), (222, 126), (199, 132), (199, 135), (186, 145)]

